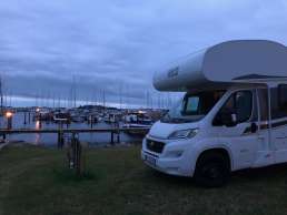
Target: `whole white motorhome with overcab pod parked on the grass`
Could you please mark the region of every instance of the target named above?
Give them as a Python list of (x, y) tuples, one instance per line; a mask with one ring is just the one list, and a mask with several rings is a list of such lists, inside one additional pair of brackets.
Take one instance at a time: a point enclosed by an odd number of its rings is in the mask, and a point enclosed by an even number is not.
[(220, 186), (232, 171), (287, 162), (285, 45), (224, 42), (157, 72), (154, 85), (186, 94), (144, 140), (149, 166)]

